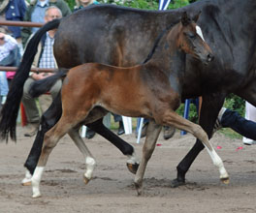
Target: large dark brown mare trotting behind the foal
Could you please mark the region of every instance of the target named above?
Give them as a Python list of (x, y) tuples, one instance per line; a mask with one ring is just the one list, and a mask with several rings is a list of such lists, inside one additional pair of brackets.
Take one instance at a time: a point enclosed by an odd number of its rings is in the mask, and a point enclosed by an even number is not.
[[(128, 67), (144, 62), (157, 36), (167, 26), (176, 23), (184, 10), (189, 15), (202, 11), (198, 24), (215, 56), (208, 67), (188, 56), (182, 88), (183, 99), (203, 97), (199, 123), (208, 137), (212, 135), (218, 111), (229, 93), (235, 93), (256, 106), (255, 0), (201, 0), (185, 8), (165, 12), (102, 5), (86, 8), (62, 20), (54, 20), (41, 28), (31, 40), (2, 110), (2, 137), (6, 138), (10, 133), (15, 138), (23, 83), (46, 30), (58, 27), (54, 52), (59, 67), (72, 68), (87, 62)], [(31, 173), (38, 162), (44, 135), (61, 113), (61, 100), (58, 97), (43, 115), (41, 129), (25, 163)], [(133, 155), (133, 147), (106, 129), (101, 120), (89, 125), (112, 141), (123, 154)], [(198, 139), (178, 164), (177, 185), (184, 184), (187, 170), (203, 148)]]

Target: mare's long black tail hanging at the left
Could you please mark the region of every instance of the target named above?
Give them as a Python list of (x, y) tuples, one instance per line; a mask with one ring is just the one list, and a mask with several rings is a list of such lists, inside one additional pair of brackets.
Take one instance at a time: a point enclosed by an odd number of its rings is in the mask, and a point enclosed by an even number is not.
[(37, 53), (37, 46), (40, 43), (42, 36), (48, 30), (57, 28), (59, 23), (60, 19), (54, 19), (41, 27), (29, 41), (25, 49), (22, 61), (16, 71), (16, 76), (12, 80), (6, 104), (1, 110), (0, 137), (6, 139), (6, 141), (8, 141), (9, 134), (13, 140), (16, 140), (16, 117), (23, 94), (23, 85), (29, 76), (31, 65)]

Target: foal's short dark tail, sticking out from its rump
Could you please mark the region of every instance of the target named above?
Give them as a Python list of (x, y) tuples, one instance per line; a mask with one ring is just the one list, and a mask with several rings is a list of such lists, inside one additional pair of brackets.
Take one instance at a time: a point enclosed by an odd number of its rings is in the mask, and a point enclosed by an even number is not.
[(53, 76), (48, 76), (44, 79), (33, 82), (29, 89), (29, 94), (33, 98), (36, 98), (48, 92), (48, 90), (50, 90), (50, 88), (55, 84), (55, 82), (58, 79), (67, 76), (68, 71), (69, 71), (68, 69), (61, 69)]

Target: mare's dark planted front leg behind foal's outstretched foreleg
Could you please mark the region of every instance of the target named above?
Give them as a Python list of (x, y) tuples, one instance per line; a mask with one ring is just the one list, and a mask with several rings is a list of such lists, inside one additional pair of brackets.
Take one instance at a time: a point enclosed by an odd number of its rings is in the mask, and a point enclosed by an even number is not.
[[(218, 112), (223, 106), (225, 100), (225, 94), (217, 94), (215, 96), (204, 96), (202, 108), (200, 112), (200, 125), (207, 132), (208, 137), (212, 135), (213, 126), (215, 124)], [(177, 187), (185, 184), (185, 174), (189, 167), (193, 164), (198, 154), (205, 148), (203, 143), (197, 138), (196, 143), (182, 159), (182, 161), (176, 167), (176, 179), (172, 182), (173, 187)]]

